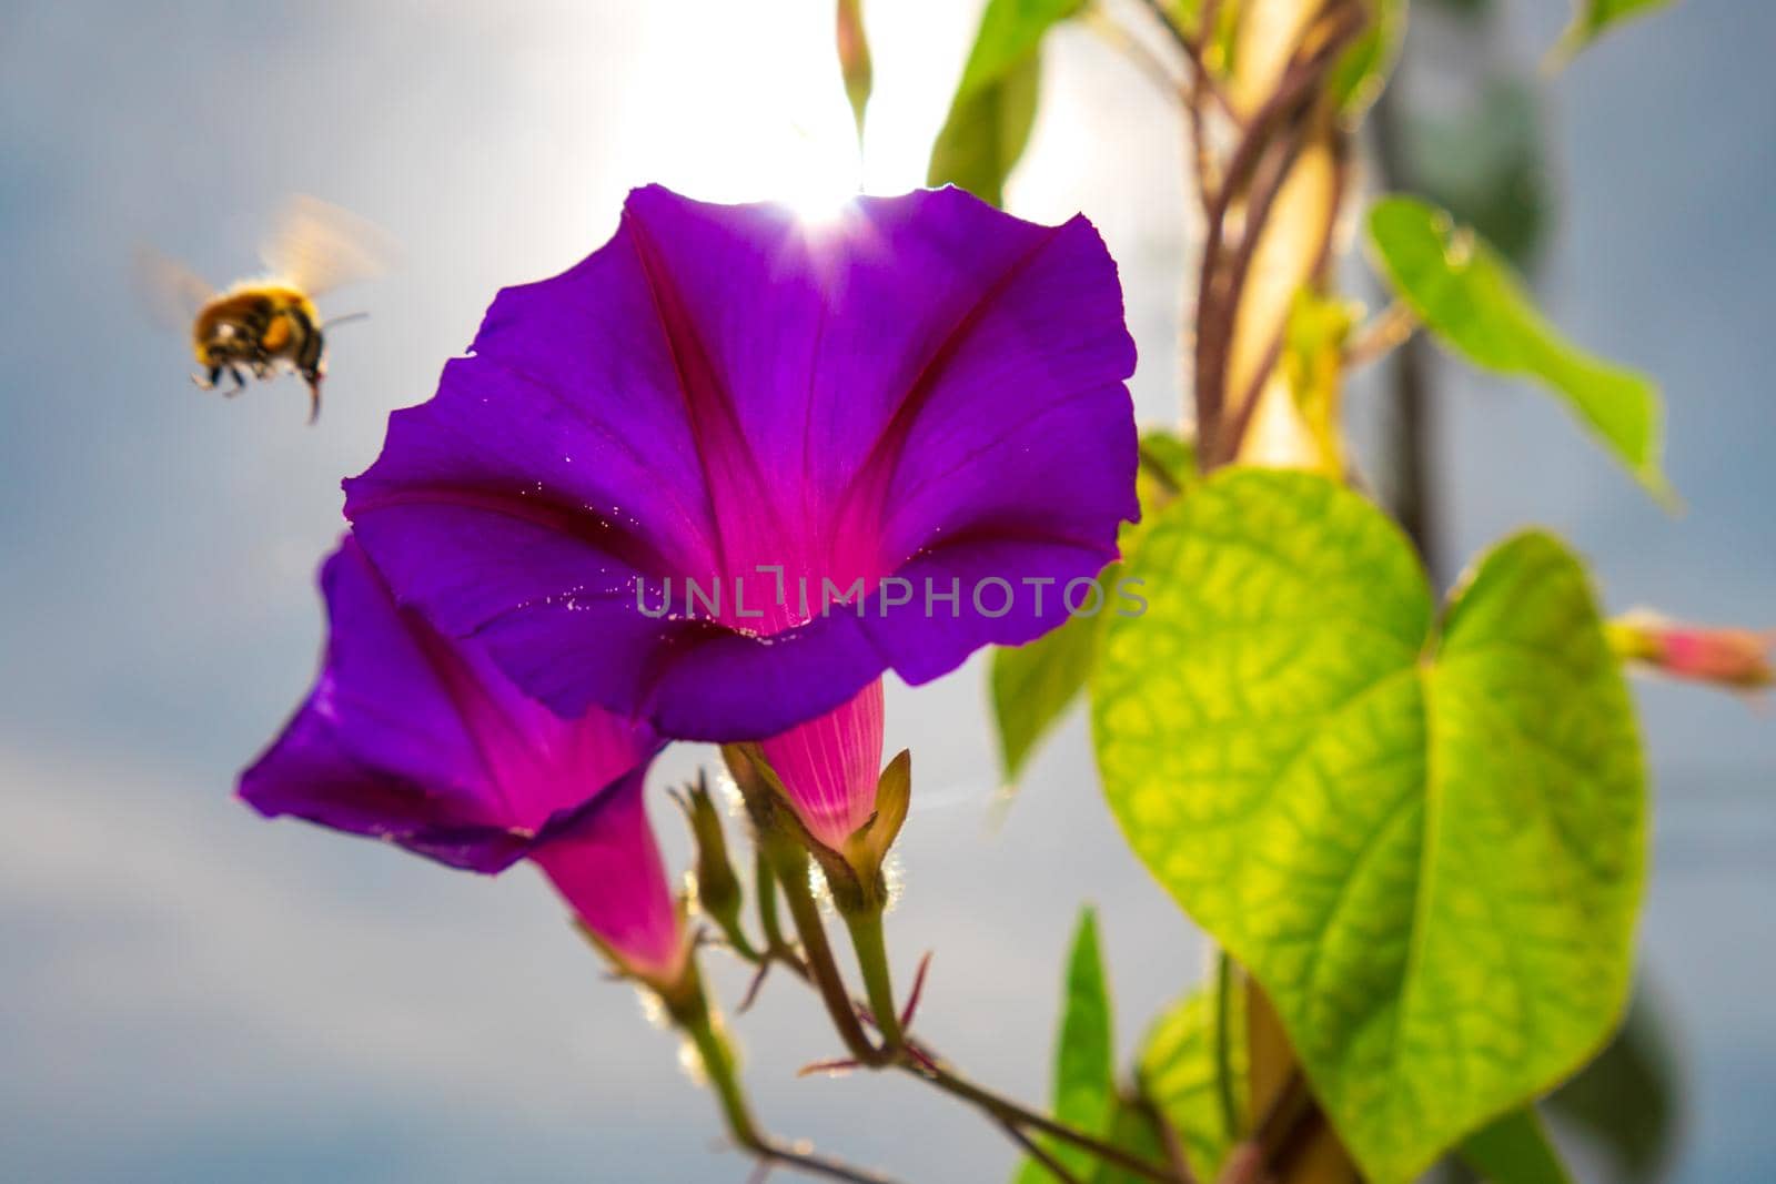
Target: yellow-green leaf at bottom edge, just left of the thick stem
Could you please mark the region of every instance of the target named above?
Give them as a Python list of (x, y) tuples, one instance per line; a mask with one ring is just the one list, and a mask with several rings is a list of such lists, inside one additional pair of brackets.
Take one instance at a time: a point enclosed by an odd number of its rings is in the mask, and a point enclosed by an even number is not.
[[(1140, 1051), (1140, 1081), (1147, 1097), (1177, 1131), (1185, 1159), (1199, 1180), (1213, 1180), (1222, 1159), (1233, 1148), (1236, 1131), (1227, 1125), (1220, 1083), (1220, 1040), (1217, 1022), (1220, 992), (1215, 983), (1192, 992), (1172, 1006), (1147, 1033)], [(1245, 992), (1227, 994), (1225, 1038), (1227, 1083), (1233, 1097), (1247, 1095)]]

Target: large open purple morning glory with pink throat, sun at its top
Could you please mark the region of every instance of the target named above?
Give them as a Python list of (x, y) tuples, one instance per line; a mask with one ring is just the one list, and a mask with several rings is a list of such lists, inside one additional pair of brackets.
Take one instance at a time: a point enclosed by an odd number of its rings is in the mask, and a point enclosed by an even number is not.
[(936, 190), (806, 225), (650, 186), (600, 250), (496, 298), (346, 515), (403, 604), (563, 715), (778, 737), (842, 840), (881, 675), (1030, 641), (1115, 557), (1133, 367), (1085, 218)]

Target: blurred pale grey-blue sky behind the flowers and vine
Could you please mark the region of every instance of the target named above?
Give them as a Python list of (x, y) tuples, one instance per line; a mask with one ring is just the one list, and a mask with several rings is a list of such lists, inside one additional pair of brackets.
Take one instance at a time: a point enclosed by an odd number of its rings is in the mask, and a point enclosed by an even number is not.
[[(870, 192), (924, 179), (979, 7), (868, 5)], [(1481, 153), (1524, 169), (1501, 225), (1526, 233), (1558, 321), (1664, 383), (1687, 501), (1664, 517), (1550, 399), (1426, 355), (1442, 575), (1540, 522), (1595, 561), (1611, 609), (1776, 623), (1776, 7), (1685, 0), (1554, 80), (1536, 62), (1565, 5), (1414, 7), (1394, 149), (1444, 190)], [(1138, 412), (1172, 421), (1181, 126), (1083, 27), (1051, 37), (1044, 67), (1007, 204), (1098, 222), (1140, 344)], [(1495, 99), (1501, 78), (1515, 98)], [(1529, 149), (1508, 128), (1526, 105)], [(266, 824), (231, 792), (313, 675), (339, 479), (389, 410), (432, 392), (499, 286), (604, 241), (632, 185), (817, 204), (858, 176), (831, 0), (0, 4), (0, 1175), (746, 1179), (671, 1037), (602, 980), (540, 877)], [(185, 343), (130, 282), (140, 241), (217, 282), (252, 272), (291, 192), (403, 243), (396, 272), (329, 302), (373, 316), (332, 337), (316, 428), (295, 380), (229, 403), (194, 391)], [(1350, 394), (1371, 444), (1387, 383), (1366, 373)], [(1776, 1179), (1771, 715), (1639, 692), (1657, 770), (1645, 978), (1677, 1140), (1652, 1172)], [(979, 660), (893, 687), (888, 730), (892, 749), (916, 742), (890, 937), (902, 975), (936, 950), (922, 1031), (1041, 1101), (1067, 932), (1094, 902), (1133, 1047), (1202, 948), (1122, 845), (1083, 722), (1009, 808)], [(678, 751), (661, 779), (707, 756)], [(682, 852), (661, 801), (655, 817)], [(719, 987), (732, 1003), (744, 980)], [(993, 1129), (908, 1081), (797, 1079), (836, 1046), (792, 983), (739, 1033), (774, 1131), (911, 1180), (1009, 1172)]]

